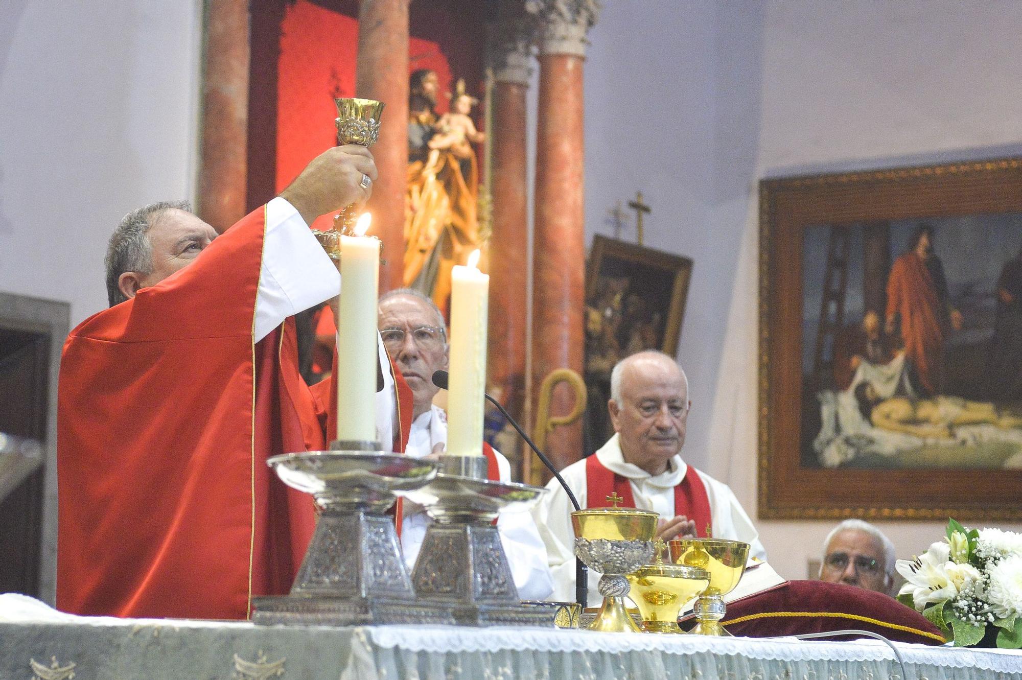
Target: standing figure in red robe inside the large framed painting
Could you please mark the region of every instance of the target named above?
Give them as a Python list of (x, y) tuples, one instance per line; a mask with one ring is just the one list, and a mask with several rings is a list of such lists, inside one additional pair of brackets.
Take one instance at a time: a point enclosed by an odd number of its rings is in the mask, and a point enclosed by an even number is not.
[(900, 323), (905, 356), (925, 394), (943, 389), (944, 339), (962, 328), (962, 314), (947, 296), (947, 280), (933, 252), (933, 228), (921, 225), (887, 279), (887, 333)]

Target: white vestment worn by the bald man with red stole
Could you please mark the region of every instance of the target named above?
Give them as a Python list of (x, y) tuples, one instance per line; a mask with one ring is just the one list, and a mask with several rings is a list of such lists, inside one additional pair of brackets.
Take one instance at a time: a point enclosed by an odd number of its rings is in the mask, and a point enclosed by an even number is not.
[[(676, 454), (667, 462), (666, 472), (650, 475), (645, 470), (624, 462), (621, 454), (620, 439), (614, 435), (593, 455), (612, 473), (624, 477), (632, 484), (632, 496), (639, 509), (653, 511), (663, 519), (675, 517), (675, 487), (691, 470), (699, 475), (706, 496), (709, 499), (710, 522), (713, 536), (745, 541), (751, 544), (750, 554), (760, 560), (766, 560), (766, 552), (759, 542), (759, 534), (752, 526), (752, 520), (742, 509), (734, 492), (727, 484), (718, 482), (709, 475), (695, 468), (689, 468)], [(572, 463), (561, 471), (561, 477), (571, 488), (575, 499), (582, 507), (588, 507), (586, 495), (586, 459)], [(557, 601), (574, 601), (575, 599), (575, 556), (574, 530), (571, 528), (571, 501), (556, 479), (547, 484), (550, 492), (540, 500), (532, 511), (536, 524), (540, 527), (540, 535), (547, 544), (547, 554), (550, 560), (550, 571), (554, 575), (553, 599)], [(598, 606), (602, 596), (596, 589), (600, 574), (589, 573), (589, 604)]]

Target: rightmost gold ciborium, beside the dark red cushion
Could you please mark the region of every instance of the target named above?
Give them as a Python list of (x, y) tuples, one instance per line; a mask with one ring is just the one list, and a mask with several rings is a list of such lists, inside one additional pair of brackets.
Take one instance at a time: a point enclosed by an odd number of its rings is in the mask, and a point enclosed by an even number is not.
[(690, 632), (730, 636), (721, 625), (727, 609), (724, 595), (734, 590), (742, 579), (749, 558), (749, 544), (725, 538), (685, 538), (670, 541), (669, 546), (671, 562), (709, 572), (709, 587), (699, 596), (694, 609), (698, 623)]

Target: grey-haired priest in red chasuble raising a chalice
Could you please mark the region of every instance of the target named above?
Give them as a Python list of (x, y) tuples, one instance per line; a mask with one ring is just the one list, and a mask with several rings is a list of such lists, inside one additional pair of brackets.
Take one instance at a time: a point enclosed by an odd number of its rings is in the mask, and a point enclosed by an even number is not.
[(168, 203), (122, 221), (110, 307), (60, 365), (59, 609), (244, 619), (253, 596), (287, 592), (315, 514), (266, 459), (329, 439), (290, 317), (340, 286), (309, 224), (365, 201), (375, 177), (368, 150), (336, 147), (222, 234)]

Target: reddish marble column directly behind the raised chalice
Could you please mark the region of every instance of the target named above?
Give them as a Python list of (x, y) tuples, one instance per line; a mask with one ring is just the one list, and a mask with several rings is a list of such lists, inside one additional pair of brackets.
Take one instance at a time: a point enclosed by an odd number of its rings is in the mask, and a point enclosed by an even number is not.
[(386, 264), (380, 292), (401, 288), (405, 257), (405, 188), (408, 175), (408, 7), (410, 0), (362, 0), (356, 96), (386, 104), (379, 141), (372, 147), (379, 169), (368, 209), (370, 233), (383, 241)]

